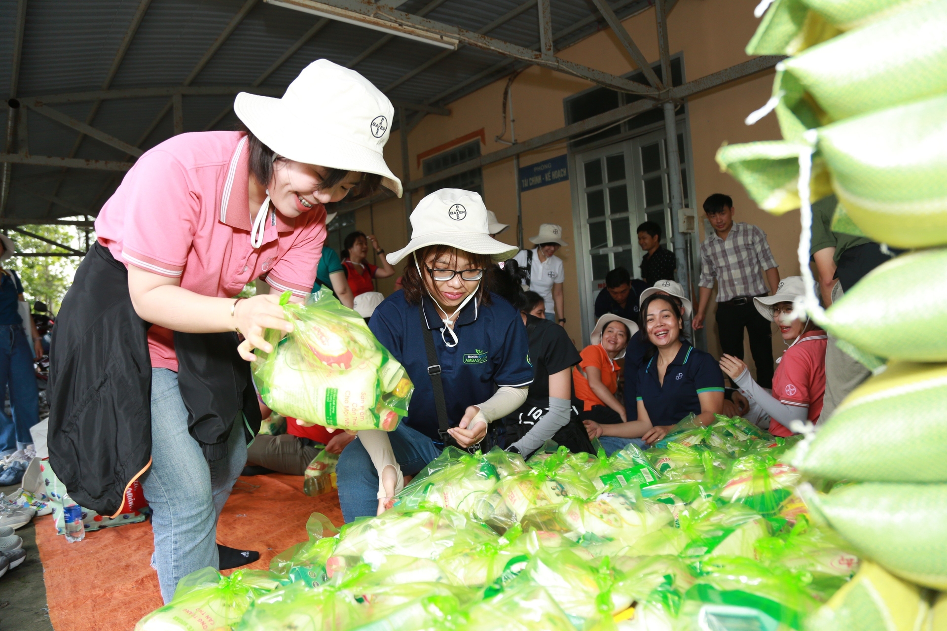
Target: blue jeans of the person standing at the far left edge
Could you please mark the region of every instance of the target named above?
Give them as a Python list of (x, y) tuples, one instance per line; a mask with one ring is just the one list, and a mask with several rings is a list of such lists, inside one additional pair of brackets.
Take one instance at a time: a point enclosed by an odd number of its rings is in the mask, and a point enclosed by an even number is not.
[(33, 442), (29, 428), (40, 422), (33, 349), (19, 324), (0, 325), (0, 393), (9, 386), (9, 419), (0, 407), (0, 456)]

